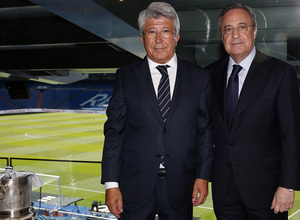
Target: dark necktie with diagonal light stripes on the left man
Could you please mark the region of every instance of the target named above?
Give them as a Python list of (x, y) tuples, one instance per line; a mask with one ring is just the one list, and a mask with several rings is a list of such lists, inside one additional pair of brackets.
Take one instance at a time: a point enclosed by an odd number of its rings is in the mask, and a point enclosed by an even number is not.
[(157, 101), (163, 122), (167, 121), (168, 113), (171, 106), (170, 82), (167, 68), (168, 65), (160, 65), (156, 68), (161, 73), (162, 77), (158, 86)]

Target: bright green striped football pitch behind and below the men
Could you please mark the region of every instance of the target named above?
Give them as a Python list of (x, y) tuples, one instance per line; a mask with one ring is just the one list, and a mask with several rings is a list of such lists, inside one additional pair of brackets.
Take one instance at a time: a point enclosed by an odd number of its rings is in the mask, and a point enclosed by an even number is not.
[[(44, 180), (43, 192), (82, 198), (79, 206), (104, 202), (100, 184), (103, 124), (106, 116), (83, 113), (38, 113), (0, 116), (0, 157), (10, 158), (16, 171), (32, 171)], [(33, 160), (32, 160), (33, 159)], [(0, 159), (0, 168), (7, 161)], [(259, 200), (259, 198), (257, 198)], [(195, 219), (215, 220), (211, 192), (194, 208)], [(300, 193), (296, 193), (289, 219), (300, 219)]]

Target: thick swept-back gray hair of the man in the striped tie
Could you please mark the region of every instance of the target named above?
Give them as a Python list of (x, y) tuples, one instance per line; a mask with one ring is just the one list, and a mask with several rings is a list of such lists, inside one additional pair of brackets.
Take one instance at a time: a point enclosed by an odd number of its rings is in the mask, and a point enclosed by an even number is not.
[(179, 17), (175, 9), (166, 2), (152, 2), (145, 10), (141, 11), (138, 18), (140, 34), (144, 32), (146, 19), (159, 18), (161, 16), (173, 20), (175, 35), (178, 35), (180, 30)]

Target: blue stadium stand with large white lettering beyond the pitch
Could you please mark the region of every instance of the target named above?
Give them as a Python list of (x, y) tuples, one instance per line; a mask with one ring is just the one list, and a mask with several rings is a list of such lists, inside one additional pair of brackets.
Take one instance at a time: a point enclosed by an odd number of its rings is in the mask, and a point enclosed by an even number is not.
[(30, 97), (12, 99), (0, 81), (0, 110), (46, 108), (46, 109), (101, 109), (106, 108), (112, 94), (113, 81), (85, 80), (72, 84), (46, 85), (27, 81)]

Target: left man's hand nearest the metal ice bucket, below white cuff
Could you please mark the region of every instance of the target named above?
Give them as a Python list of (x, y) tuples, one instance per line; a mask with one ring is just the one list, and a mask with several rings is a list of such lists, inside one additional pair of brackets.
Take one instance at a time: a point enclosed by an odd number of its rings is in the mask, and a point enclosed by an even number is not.
[(119, 188), (106, 190), (105, 203), (109, 211), (117, 218), (120, 218), (120, 214), (123, 212), (123, 199)]

